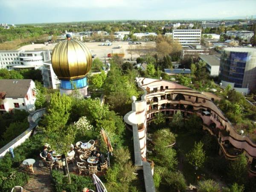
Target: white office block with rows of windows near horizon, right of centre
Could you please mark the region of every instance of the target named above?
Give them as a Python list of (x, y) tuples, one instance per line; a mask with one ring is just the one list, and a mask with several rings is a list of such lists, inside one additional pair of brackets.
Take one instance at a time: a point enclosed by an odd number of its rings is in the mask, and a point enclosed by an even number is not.
[(173, 29), (173, 41), (179, 41), (183, 47), (199, 45), (201, 41), (201, 29)]

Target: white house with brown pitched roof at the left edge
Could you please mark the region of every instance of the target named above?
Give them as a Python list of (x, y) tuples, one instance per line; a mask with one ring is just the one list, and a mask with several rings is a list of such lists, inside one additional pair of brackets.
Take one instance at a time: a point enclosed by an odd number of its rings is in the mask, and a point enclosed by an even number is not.
[(0, 79), (0, 113), (14, 109), (27, 110), (35, 103), (35, 83), (32, 79)]

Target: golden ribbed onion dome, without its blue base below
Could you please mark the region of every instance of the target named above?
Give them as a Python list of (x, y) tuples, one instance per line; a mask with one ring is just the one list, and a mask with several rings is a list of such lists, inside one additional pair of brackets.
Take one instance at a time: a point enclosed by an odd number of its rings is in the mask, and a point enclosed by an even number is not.
[(52, 68), (58, 79), (81, 79), (92, 67), (90, 50), (81, 42), (68, 38), (52, 50)]

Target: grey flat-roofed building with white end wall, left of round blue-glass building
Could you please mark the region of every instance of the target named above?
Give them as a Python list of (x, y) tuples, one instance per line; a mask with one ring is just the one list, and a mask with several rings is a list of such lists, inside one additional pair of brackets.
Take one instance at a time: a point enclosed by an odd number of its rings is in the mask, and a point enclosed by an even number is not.
[(199, 55), (199, 58), (206, 62), (206, 69), (210, 76), (218, 76), (221, 62), (221, 55)]

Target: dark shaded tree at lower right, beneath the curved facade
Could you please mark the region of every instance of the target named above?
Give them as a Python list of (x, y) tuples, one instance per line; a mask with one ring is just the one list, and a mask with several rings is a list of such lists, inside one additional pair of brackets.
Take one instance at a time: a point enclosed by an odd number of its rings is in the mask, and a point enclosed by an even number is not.
[(229, 179), (242, 185), (247, 180), (247, 159), (244, 154), (240, 154), (236, 160), (230, 162), (227, 175)]

